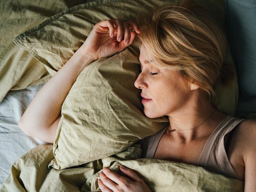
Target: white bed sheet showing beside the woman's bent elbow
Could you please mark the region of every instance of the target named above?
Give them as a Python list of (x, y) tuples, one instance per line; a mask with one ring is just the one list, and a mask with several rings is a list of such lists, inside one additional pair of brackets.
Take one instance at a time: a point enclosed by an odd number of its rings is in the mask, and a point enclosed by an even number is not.
[(20, 117), (43, 85), (9, 91), (0, 102), (0, 188), (13, 162), (35, 146), (46, 143), (29, 137), (18, 126)]

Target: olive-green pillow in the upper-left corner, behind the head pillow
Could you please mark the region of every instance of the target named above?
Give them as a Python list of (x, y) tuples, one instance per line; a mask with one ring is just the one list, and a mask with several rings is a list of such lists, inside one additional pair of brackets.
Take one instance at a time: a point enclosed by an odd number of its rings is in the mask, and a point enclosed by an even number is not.
[(82, 2), (74, 0), (67, 4), (66, 0), (43, 0), (36, 3), (30, 0), (0, 1), (0, 102), (9, 90), (26, 89), (30, 85), (45, 83), (51, 78), (44, 65), (17, 46), (13, 38), (60, 11)]

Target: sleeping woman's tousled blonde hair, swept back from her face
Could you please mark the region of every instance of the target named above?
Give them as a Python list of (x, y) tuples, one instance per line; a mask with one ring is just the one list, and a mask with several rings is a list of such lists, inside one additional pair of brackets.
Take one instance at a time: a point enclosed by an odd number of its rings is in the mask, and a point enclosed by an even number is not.
[(154, 60), (154, 65), (178, 70), (183, 79), (197, 84), (215, 99), (213, 85), (220, 76), (223, 85), (234, 79), (232, 66), (223, 67), (226, 38), (213, 18), (192, 0), (178, 6), (154, 7), (137, 16), (140, 44)]

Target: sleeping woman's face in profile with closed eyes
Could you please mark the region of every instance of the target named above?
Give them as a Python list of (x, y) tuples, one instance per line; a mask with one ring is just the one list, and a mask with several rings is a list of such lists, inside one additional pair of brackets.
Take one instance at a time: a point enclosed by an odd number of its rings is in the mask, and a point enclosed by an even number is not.
[(141, 89), (142, 97), (151, 99), (148, 102), (142, 102), (145, 115), (149, 118), (157, 118), (177, 114), (176, 112), (182, 113), (181, 110), (186, 108), (191, 92), (182, 83), (179, 72), (154, 66), (143, 44), (139, 61), (141, 73), (134, 85)]

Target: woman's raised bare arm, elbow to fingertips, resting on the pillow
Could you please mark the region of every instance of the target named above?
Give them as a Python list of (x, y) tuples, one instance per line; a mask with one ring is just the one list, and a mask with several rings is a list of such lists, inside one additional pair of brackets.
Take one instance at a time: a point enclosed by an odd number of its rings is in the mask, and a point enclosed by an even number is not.
[[(131, 32), (130, 28), (136, 32)], [(92, 61), (128, 47), (140, 33), (138, 29), (134, 22), (119, 19), (97, 23), (82, 46), (37, 93), (19, 120), (20, 129), (31, 137), (53, 143), (61, 118), (61, 105), (80, 72)]]

